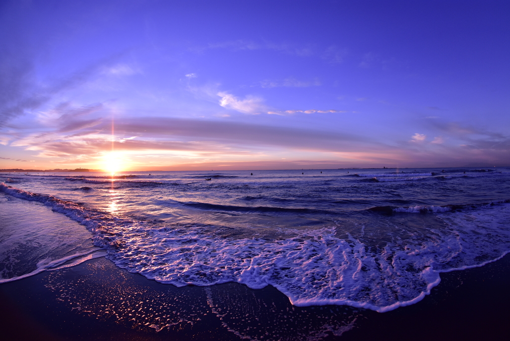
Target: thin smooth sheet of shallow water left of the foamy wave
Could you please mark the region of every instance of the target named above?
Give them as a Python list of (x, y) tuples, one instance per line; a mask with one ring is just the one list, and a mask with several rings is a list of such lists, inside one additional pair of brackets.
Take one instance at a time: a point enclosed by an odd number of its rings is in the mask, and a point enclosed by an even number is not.
[[(3, 183), (0, 184), (0, 191), (38, 202), (48, 203), (51, 200), (47, 196), (37, 196)], [(55, 200), (54, 203), (59, 202)], [(83, 226), (52, 212), (44, 205), (26, 205), (29, 204), (17, 200), (2, 203), (0, 283), (105, 256), (104, 251), (101, 253), (92, 245), (91, 234)]]

